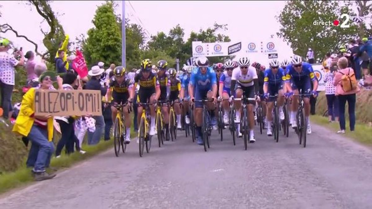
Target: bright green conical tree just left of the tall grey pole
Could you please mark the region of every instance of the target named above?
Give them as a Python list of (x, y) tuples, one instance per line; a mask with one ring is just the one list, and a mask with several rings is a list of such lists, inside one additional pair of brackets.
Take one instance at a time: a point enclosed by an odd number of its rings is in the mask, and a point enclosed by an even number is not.
[(106, 64), (121, 64), (121, 30), (117, 23), (112, 1), (97, 7), (92, 20), (94, 28), (88, 30), (83, 45), (87, 63), (103, 61)]

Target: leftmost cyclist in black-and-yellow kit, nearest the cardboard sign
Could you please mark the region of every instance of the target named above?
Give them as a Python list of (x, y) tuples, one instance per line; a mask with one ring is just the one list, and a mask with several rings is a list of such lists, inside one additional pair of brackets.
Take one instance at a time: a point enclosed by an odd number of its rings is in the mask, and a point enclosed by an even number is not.
[[(133, 98), (132, 88), (133, 83), (131, 79), (126, 76), (125, 68), (123, 66), (115, 67), (113, 70), (114, 76), (109, 80), (109, 92), (108, 92), (108, 100), (110, 102), (111, 98), (112, 104), (125, 104), (128, 100)], [(111, 107), (112, 111), (112, 120), (115, 123), (116, 114), (118, 113), (118, 109), (115, 107)], [(123, 107), (122, 112), (124, 114), (125, 120), (125, 128), (127, 135), (125, 136), (125, 143), (129, 144), (131, 142), (131, 120), (129, 120), (129, 112), (128, 106)]]

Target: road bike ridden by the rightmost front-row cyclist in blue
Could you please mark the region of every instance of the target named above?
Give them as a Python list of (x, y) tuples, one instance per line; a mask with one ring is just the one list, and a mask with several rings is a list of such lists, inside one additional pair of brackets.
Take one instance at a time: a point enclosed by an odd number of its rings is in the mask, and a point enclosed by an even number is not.
[(296, 113), (297, 128), (296, 133), (298, 135), (299, 144), (302, 143), (303, 147), (306, 147), (306, 130), (307, 130), (307, 120), (304, 110), (304, 97), (312, 96), (312, 94), (296, 94), (293, 96), (299, 96), (299, 105)]

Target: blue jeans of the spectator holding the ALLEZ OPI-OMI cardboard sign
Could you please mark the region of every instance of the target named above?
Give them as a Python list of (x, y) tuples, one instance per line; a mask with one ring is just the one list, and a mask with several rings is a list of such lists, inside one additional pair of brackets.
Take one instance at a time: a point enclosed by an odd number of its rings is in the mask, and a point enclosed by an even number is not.
[[(48, 130), (33, 125), (27, 138), (31, 140), (32, 145), (29, 154), (28, 163), (32, 164), (32, 159), (35, 159), (36, 148), (38, 147), (34, 172), (44, 172), (46, 167), (49, 167), (50, 159), (54, 152), (53, 142), (48, 141)], [(31, 156), (30, 156), (31, 155)]]

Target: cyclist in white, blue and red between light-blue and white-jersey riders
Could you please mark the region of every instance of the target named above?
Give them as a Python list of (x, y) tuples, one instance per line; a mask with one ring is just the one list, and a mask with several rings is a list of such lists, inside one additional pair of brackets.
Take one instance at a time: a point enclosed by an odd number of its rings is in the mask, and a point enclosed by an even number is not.
[[(219, 78), (218, 101), (230, 98), (231, 75), (232, 70), (234, 70), (235, 68), (235, 63), (232, 60), (226, 60), (224, 68), (225, 71)], [(227, 100), (222, 101), (222, 107), (224, 109), (224, 123), (228, 124), (229, 123), (228, 113), (230, 112), (229, 102)]]

